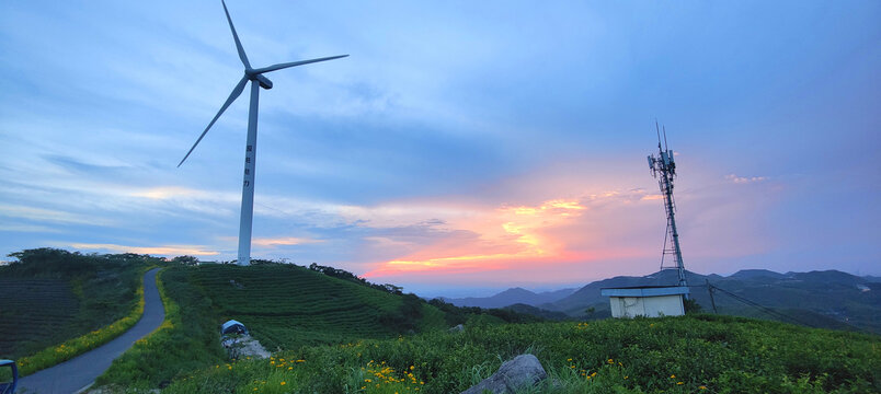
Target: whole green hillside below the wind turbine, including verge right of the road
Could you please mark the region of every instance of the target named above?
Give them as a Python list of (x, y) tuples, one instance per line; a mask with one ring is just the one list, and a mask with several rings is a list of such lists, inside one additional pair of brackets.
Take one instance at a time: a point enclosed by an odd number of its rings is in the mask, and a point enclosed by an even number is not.
[[(172, 267), (160, 280), (167, 324), (114, 360), (98, 384), (157, 387), (222, 364), (218, 331), (228, 318), (244, 323), (270, 350), (394, 337), (401, 331), (396, 323), (416, 331), (446, 327), (444, 313), (424, 302), (297, 266)], [(408, 305), (417, 309), (414, 320), (401, 315)]]

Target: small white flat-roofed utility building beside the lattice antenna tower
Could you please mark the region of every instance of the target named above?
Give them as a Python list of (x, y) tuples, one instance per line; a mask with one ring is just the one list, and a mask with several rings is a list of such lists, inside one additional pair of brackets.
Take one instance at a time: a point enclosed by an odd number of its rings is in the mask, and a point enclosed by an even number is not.
[(685, 314), (683, 297), (688, 294), (685, 286), (640, 286), (599, 289), (609, 298), (613, 317), (661, 317)]

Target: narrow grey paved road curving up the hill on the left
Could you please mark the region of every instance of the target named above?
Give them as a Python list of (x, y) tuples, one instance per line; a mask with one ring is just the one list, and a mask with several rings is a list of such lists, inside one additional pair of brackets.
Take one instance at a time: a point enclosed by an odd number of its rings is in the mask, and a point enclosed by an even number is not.
[(128, 350), (136, 340), (158, 328), (165, 318), (165, 310), (156, 288), (157, 271), (159, 268), (151, 269), (144, 276), (144, 315), (134, 327), (101, 347), (22, 378), (16, 391), (37, 394), (75, 393), (94, 382), (113, 359)]

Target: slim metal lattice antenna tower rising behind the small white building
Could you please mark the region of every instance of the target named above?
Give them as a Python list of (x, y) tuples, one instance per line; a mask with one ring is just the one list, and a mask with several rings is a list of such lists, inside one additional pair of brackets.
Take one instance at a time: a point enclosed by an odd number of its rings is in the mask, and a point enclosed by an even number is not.
[[(664, 235), (664, 248), (661, 254), (661, 269), (676, 269), (679, 274), (678, 286), (687, 287), (685, 281), (685, 265), (683, 265), (683, 252), (679, 248), (679, 233), (676, 230), (676, 201), (673, 199), (673, 179), (676, 177), (676, 162), (673, 161), (673, 151), (667, 149), (667, 130), (664, 129), (664, 148), (661, 148), (661, 130), (657, 121), (654, 123), (657, 132), (657, 157), (649, 157), (649, 169), (652, 176), (657, 178), (661, 186), (661, 194), (664, 196), (664, 210), (667, 213), (667, 232)], [(667, 242), (673, 241), (671, 247)], [(664, 257), (673, 256), (674, 264), (665, 265)], [(687, 298), (688, 296), (685, 294)]]

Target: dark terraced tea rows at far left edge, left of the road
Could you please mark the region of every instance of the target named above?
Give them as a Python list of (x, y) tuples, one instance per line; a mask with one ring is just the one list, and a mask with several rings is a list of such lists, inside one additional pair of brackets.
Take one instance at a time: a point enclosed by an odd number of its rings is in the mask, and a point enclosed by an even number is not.
[(0, 279), (0, 358), (19, 358), (78, 334), (79, 300), (61, 279)]

